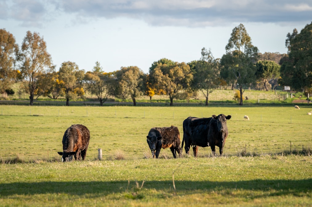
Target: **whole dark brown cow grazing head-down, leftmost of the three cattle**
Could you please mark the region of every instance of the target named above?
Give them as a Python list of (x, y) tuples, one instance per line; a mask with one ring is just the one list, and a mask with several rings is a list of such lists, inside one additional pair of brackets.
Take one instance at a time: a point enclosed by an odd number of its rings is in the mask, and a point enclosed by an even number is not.
[(63, 136), (63, 152), (58, 152), (62, 155), (62, 162), (71, 161), (73, 155), (75, 160), (85, 160), (90, 141), (90, 131), (87, 127), (81, 124), (74, 124), (69, 127)]

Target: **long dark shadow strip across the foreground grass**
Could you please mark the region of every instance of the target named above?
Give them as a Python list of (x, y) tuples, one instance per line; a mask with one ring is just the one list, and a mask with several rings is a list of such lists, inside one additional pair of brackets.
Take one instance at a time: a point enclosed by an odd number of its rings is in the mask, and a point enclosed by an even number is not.
[[(144, 189), (164, 191), (172, 189), (172, 181), (145, 181)], [(0, 184), (0, 198), (10, 195), (36, 195), (58, 194), (69, 195), (122, 193), (135, 189), (135, 181), (112, 182), (13, 182)], [(312, 192), (312, 179), (302, 180), (251, 180), (238, 182), (212, 182), (212, 181), (175, 181), (175, 187), (179, 195), (192, 195), (198, 191), (262, 191), (266, 195), (297, 195)], [(127, 189), (127, 190), (126, 190)]]

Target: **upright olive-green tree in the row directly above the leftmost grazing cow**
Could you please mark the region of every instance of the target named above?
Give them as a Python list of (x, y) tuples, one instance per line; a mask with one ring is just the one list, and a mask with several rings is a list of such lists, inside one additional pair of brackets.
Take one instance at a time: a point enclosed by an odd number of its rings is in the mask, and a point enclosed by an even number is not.
[(69, 101), (83, 96), (85, 94), (82, 88), (82, 81), (84, 79), (85, 72), (79, 70), (78, 65), (75, 62), (63, 62), (59, 72), (58, 80), (62, 83), (62, 90), (65, 93), (66, 106), (69, 106)]

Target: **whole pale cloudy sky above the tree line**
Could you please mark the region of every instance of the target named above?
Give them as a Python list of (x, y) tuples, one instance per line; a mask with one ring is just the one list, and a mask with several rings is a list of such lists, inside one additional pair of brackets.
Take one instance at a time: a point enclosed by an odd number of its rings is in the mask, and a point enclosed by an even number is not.
[(225, 54), (242, 23), (261, 53), (287, 53), (285, 39), (312, 21), (312, 0), (0, 0), (0, 28), (21, 45), (38, 32), (58, 70), (76, 62), (105, 72), (154, 61), (191, 62), (203, 47)]

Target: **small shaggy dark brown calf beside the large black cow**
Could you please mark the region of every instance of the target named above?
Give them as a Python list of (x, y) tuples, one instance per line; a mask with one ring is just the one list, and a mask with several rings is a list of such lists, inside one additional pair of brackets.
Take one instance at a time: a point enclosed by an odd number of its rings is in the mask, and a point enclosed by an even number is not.
[[(177, 158), (176, 152), (181, 156), (180, 132), (178, 127), (154, 127), (149, 130), (147, 143), (152, 151), (153, 158), (158, 158), (160, 149), (170, 147), (174, 158)], [(156, 152), (155, 152), (156, 151)]]

